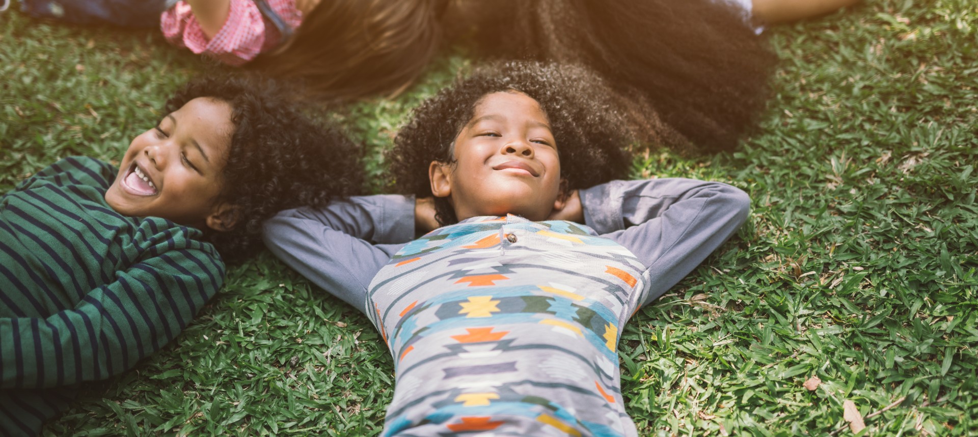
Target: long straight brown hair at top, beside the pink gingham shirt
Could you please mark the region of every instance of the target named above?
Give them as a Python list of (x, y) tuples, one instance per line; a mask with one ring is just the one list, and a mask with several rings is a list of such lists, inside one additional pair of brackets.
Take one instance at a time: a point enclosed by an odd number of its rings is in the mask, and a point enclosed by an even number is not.
[(397, 93), (413, 82), (441, 42), (438, 0), (322, 0), (280, 52), (251, 65), (302, 79), (316, 97), (345, 102)]

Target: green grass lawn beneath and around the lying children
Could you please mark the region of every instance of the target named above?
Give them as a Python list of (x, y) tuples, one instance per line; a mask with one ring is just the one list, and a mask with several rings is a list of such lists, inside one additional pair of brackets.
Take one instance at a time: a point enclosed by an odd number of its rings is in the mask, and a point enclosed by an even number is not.
[[(739, 152), (636, 160), (636, 176), (733, 183), (753, 211), (624, 330), (629, 413), (643, 435), (825, 436), (851, 400), (865, 417), (897, 403), (863, 434), (978, 434), (978, 9), (868, 0), (769, 31), (777, 92)], [(117, 159), (202, 69), (152, 30), (17, 13), (0, 16), (0, 47), (2, 191), (68, 154)], [(335, 115), (368, 145), (371, 174), (407, 111), (462, 64)], [(45, 433), (376, 435), (392, 380), (365, 317), (263, 254)]]

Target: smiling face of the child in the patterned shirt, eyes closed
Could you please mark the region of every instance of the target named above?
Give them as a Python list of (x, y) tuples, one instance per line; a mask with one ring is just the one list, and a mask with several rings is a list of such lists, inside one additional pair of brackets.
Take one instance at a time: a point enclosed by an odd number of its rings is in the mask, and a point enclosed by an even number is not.
[(455, 138), (456, 163), (431, 162), (436, 197), (450, 197), (459, 220), (521, 215), (545, 220), (562, 201), (560, 160), (550, 123), (529, 96), (485, 95)]

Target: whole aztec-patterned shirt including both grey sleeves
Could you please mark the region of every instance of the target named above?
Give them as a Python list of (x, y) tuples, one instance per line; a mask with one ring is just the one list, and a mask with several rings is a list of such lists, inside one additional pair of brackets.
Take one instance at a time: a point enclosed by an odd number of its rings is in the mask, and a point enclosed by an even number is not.
[(635, 436), (619, 332), (750, 198), (679, 178), (579, 193), (587, 226), (475, 217), (414, 240), (414, 198), (385, 195), (282, 211), (264, 239), (382, 333), (397, 374), (383, 436)]

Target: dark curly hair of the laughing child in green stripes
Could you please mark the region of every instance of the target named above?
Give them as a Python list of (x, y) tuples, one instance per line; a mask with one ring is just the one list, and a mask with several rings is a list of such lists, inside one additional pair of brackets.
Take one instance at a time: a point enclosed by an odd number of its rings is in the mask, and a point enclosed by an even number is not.
[(304, 116), (285, 91), (256, 77), (208, 77), (188, 83), (164, 107), (169, 113), (202, 97), (232, 109), (234, 133), (215, 201), (234, 204), (237, 217), (230, 231), (204, 230), (204, 240), (225, 260), (261, 248), (261, 223), (276, 212), (323, 206), (362, 187), (360, 148), (338, 129)]

